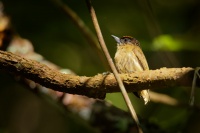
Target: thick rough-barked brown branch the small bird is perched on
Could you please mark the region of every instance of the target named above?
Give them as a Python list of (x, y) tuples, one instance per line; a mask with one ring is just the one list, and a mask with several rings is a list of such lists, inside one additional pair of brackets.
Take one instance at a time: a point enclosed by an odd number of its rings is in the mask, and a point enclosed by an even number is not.
[[(39, 62), (5, 51), (0, 51), (0, 69), (17, 73), (53, 90), (71, 94), (103, 99), (106, 93), (120, 92), (113, 74), (98, 74), (94, 77), (63, 74)], [(188, 67), (161, 68), (120, 76), (127, 91), (131, 92), (146, 88), (191, 86), (193, 74), (194, 69)]]

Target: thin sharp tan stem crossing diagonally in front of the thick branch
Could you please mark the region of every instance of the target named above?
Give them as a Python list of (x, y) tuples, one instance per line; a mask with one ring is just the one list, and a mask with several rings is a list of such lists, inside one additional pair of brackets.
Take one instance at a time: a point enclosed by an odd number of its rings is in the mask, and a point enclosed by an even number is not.
[(111, 56), (110, 56), (110, 54), (108, 52), (108, 49), (106, 47), (105, 42), (104, 42), (103, 35), (101, 33), (101, 30), (100, 30), (100, 27), (99, 27), (99, 24), (98, 24), (98, 20), (97, 20), (96, 14), (95, 14), (95, 10), (91, 5), (91, 1), (90, 0), (86, 0), (86, 3), (87, 3), (87, 6), (89, 8), (89, 11), (90, 11), (90, 14), (91, 14), (91, 17), (92, 17), (92, 21), (93, 21), (93, 24), (94, 24), (94, 27), (95, 27), (95, 30), (96, 30), (96, 33), (97, 33), (101, 48), (102, 48), (102, 50), (103, 50), (103, 52), (104, 52), (104, 54), (106, 56), (106, 59), (107, 59), (107, 61), (109, 63), (109, 66), (111, 67), (111, 69), (112, 69), (112, 71), (113, 71), (113, 73), (115, 75), (115, 78), (116, 78), (116, 80), (117, 80), (117, 82), (119, 84), (119, 87), (121, 89), (121, 92), (122, 92), (122, 95), (124, 97), (124, 100), (125, 100), (128, 108), (129, 108), (129, 111), (130, 111), (133, 119), (135, 120), (135, 122), (137, 124), (138, 132), (142, 133), (143, 131), (140, 128), (139, 119), (137, 117), (135, 109), (133, 108), (133, 105), (132, 105), (132, 103), (131, 103), (131, 101), (129, 99), (129, 96), (128, 96), (127, 92), (126, 92), (126, 89), (125, 89), (125, 87), (123, 85), (123, 82), (122, 82), (122, 80), (121, 80), (121, 78), (120, 78), (120, 76), (119, 76), (119, 74), (117, 72), (117, 69), (116, 69), (116, 67), (115, 67), (115, 65), (113, 63), (113, 60), (112, 60), (112, 58), (111, 58)]

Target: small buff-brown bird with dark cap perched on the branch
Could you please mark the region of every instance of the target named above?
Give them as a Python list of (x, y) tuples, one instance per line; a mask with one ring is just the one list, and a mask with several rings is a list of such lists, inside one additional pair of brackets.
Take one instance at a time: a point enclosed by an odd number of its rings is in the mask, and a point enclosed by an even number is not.
[[(119, 73), (134, 73), (136, 71), (149, 70), (147, 60), (140, 48), (140, 42), (131, 36), (122, 38), (112, 35), (117, 42), (115, 53), (115, 65)], [(144, 103), (150, 101), (149, 90), (133, 92), (137, 97), (143, 98)]]

